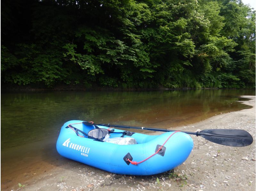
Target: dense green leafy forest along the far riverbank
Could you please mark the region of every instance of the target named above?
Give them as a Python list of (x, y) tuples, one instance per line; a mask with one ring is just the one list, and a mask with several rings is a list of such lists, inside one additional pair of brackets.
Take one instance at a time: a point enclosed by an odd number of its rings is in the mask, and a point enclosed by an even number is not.
[(255, 88), (237, 0), (1, 1), (1, 85)]

